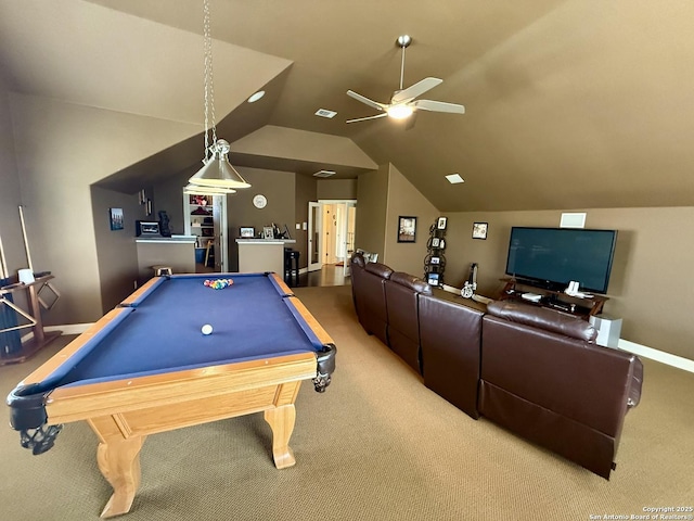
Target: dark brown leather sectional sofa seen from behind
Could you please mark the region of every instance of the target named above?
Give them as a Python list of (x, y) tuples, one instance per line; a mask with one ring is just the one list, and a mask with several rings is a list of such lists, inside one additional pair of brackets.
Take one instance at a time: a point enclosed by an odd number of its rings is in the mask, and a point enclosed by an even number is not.
[(624, 419), (639, 404), (643, 365), (594, 343), (587, 321), (511, 301), (484, 305), (356, 254), (357, 317), (424, 384), (609, 479)]

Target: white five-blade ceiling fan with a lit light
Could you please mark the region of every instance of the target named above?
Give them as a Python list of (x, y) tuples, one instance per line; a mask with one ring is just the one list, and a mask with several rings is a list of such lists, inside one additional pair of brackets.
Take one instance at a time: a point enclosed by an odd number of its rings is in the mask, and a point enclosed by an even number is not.
[(402, 49), (402, 64), (400, 66), (400, 90), (396, 90), (390, 98), (390, 103), (378, 103), (370, 100), (365, 96), (361, 96), (354, 90), (348, 90), (347, 96), (355, 100), (381, 111), (380, 114), (367, 117), (357, 117), (347, 119), (347, 123), (365, 122), (368, 119), (376, 119), (378, 117), (390, 116), (394, 119), (404, 119), (410, 117), (415, 111), (430, 112), (448, 112), (453, 114), (465, 114), (465, 107), (455, 103), (446, 103), (442, 101), (416, 100), (424, 92), (433, 89), (437, 85), (444, 82), (439, 78), (424, 78), (407, 89), (402, 89), (402, 78), (404, 76), (404, 50), (412, 43), (412, 38), (408, 35), (399, 36), (396, 40), (397, 45)]

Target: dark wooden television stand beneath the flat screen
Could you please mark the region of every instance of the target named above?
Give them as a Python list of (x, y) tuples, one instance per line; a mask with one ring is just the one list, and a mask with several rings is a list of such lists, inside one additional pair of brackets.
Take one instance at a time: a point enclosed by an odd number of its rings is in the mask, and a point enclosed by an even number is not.
[[(583, 320), (588, 320), (590, 317), (602, 313), (605, 302), (609, 300), (609, 297), (604, 295), (592, 295), (590, 297), (571, 296), (563, 291), (538, 288), (530, 282), (516, 279), (501, 280), (505, 282), (505, 284), (499, 295), (498, 300), (500, 301), (517, 301), (535, 306), (548, 307), (575, 315)], [(540, 295), (540, 298), (524, 298), (523, 295), (526, 293)]]

